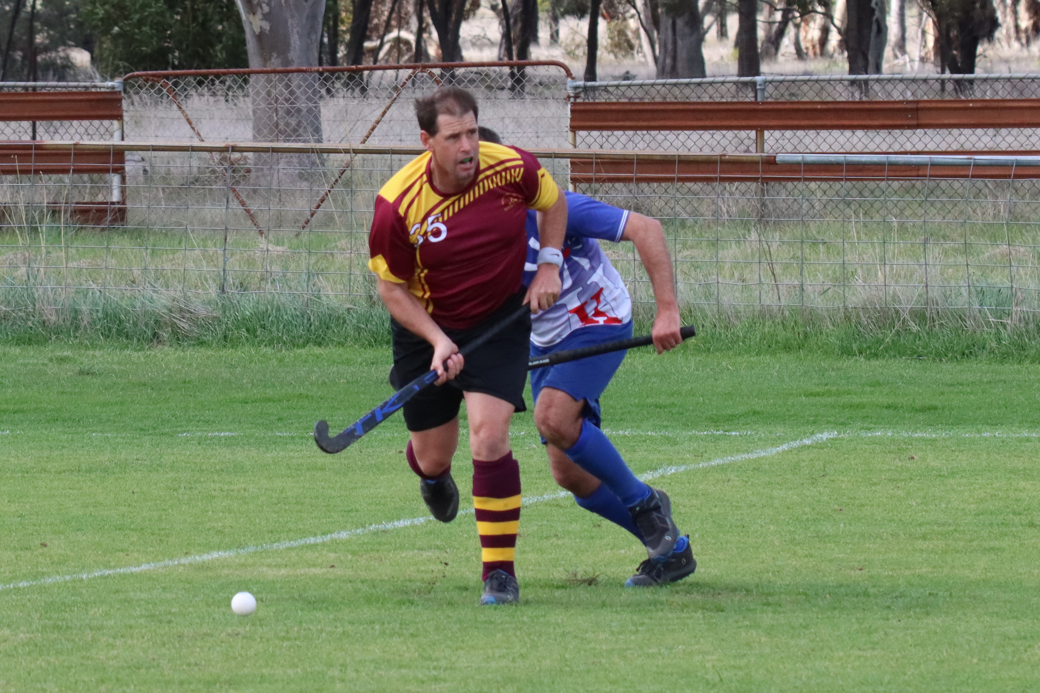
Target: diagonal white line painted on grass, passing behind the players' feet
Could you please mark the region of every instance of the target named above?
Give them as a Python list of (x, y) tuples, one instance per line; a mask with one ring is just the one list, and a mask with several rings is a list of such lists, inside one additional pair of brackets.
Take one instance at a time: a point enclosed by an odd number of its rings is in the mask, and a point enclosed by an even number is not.
[[(656, 479), (658, 477), (678, 474), (680, 472), (687, 472), (690, 470), (699, 470), (706, 467), (728, 464), (729, 462), (738, 462), (745, 459), (770, 457), (772, 455), (778, 455), (782, 452), (787, 452), (788, 450), (794, 450), (796, 448), (802, 448), (808, 445), (823, 443), (828, 438), (840, 437), (841, 435), (842, 434), (838, 433), (837, 431), (831, 431), (827, 433), (816, 433), (815, 435), (810, 435), (809, 437), (804, 437), (800, 441), (791, 441), (789, 443), (784, 443), (783, 445), (779, 445), (775, 448), (765, 448), (763, 450), (755, 450), (752, 452), (742, 453), (739, 455), (719, 457), (718, 459), (699, 462), (697, 464), (662, 467), (659, 470), (654, 470), (653, 472), (642, 474), (640, 475), (640, 478), (643, 479), (644, 481), (648, 481), (650, 479)], [(556, 491), (554, 494), (546, 494), (545, 496), (532, 496), (523, 499), (523, 505), (527, 506), (527, 505), (532, 505), (535, 503), (543, 503), (545, 501), (552, 501), (561, 498), (566, 498), (567, 496), (569, 496), (567, 491)], [(468, 509), (460, 511), (459, 514), (471, 514), (472, 512), (473, 512), (472, 509)], [(343, 530), (340, 532), (333, 532), (331, 534), (309, 536), (303, 539), (290, 539), (288, 541), (260, 543), (253, 547), (242, 547), (241, 549), (229, 549), (227, 551), (212, 551), (209, 552), (208, 554), (184, 556), (183, 558), (171, 558), (164, 561), (142, 563), (140, 565), (128, 565), (122, 568), (105, 568), (102, 570), (94, 570), (93, 572), (51, 576), (50, 578), (38, 578), (36, 580), (23, 580), (22, 582), (10, 583), (9, 585), (0, 585), (0, 591), (6, 589), (15, 589), (17, 587), (36, 587), (40, 585), (53, 585), (55, 583), (60, 583), (60, 582), (72, 582), (73, 580), (92, 580), (94, 578), (107, 578), (109, 576), (132, 575), (135, 572), (145, 572), (147, 570), (156, 570), (158, 568), (167, 568), (176, 565), (190, 565), (192, 563), (205, 563), (207, 561), (213, 561), (220, 558), (234, 558), (236, 556), (244, 556), (246, 554), (256, 554), (261, 551), (282, 551), (285, 549), (296, 549), (297, 547), (308, 547), (315, 543), (328, 543), (329, 541), (336, 541), (338, 539), (348, 539), (350, 537), (361, 536), (363, 534), (371, 534), (372, 532), (385, 532), (389, 530), (401, 529), (405, 527), (414, 527), (416, 525), (422, 525), (427, 522), (431, 522), (432, 519), (433, 517), (431, 517), (430, 515), (423, 517), (411, 517), (409, 519), (397, 519), (392, 523), (369, 525), (368, 527), (361, 527), (353, 530)]]

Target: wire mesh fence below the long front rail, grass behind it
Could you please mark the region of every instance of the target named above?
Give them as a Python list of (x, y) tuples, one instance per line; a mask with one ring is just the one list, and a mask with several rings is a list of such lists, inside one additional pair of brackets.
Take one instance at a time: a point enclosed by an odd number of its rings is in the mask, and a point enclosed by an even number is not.
[[(85, 185), (81, 179), (3, 180), (4, 311), (56, 310), (70, 297), (90, 295), (189, 303), (220, 295), (378, 301), (366, 268), (374, 198), (418, 150), (120, 146), (127, 160), (123, 225), (76, 223), (62, 212), (56, 203), (89, 194), (71, 190)], [(942, 157), (899, 175), (847, 158), (837, 174), (732, 180), (720, 172), (690, 182), (679, 172), (641, 176), (634, 157), (618, 153), (536, 154), (562, 184), (572, 159), (631, 165), (635, 172), (627, 179), (599, 177), (593, 167), (574, 185), (660, 220), (687, 308), (958, 311), (1004, 321), (1040, 312), (1037, 161), (973, 161), (969, 172), (951, 178), (939, 175)], [(669, 163), (657, 156), (662, 168), (676, 171), (690, 162), (720, 171), (728, 165), (724, 157), (675, 155)], [(752, 167), (760, 160), (764, 170), (776, 158), (745, 159)], [(994, 170), (1010, 172), (983, 176)], [(108, 183), (99, 176), (92, 185), (103, 195)], [(635, 301), (649, 303), (634, 249), (604, 246)]]

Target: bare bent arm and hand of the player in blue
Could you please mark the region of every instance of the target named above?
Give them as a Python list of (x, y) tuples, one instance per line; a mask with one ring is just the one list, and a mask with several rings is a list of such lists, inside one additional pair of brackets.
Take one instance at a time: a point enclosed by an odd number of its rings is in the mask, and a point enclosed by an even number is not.
[(679, 302), (675, 298), (675, 275), (672, 273), (672, 258), (668, 254), (668, 241), (660, 222), (648, 216), (628, 213), (621, 240), (631, 241), (640, 254), (640, 262), (650, 276), (653, 297), (657, 303), (657, 317), (653, 321), (653, 345), (657, 353), (670, 351), (682, 344), (679, 328)]

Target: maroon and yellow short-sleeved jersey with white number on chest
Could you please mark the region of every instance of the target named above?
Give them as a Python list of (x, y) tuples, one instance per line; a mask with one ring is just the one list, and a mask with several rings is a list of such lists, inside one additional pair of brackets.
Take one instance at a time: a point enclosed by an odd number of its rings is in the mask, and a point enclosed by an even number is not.
[(458, 194), (438, 192), (430, 166), (427, 152), (380, 190), (368, 267), (407, 284), (437, 324), (463, 329), (520, 291), (527, 209), (549, 209), (560, 189), (534, 156), (491, 142)]

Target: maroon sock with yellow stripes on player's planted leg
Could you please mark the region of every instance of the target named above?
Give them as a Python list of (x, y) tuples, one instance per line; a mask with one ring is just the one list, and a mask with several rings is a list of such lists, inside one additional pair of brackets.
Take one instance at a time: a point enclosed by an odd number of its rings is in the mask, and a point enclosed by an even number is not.
[(510, 451), (494, 461), (473, 460), (473, 508), (480, 535), (484, 572), (504, 570), (514, 578), (513, 557), (520, 525), (520, 465)]

